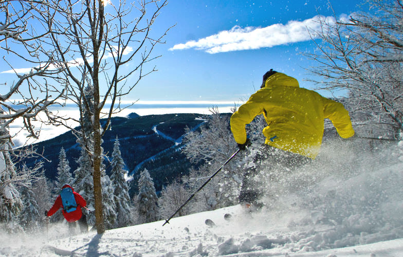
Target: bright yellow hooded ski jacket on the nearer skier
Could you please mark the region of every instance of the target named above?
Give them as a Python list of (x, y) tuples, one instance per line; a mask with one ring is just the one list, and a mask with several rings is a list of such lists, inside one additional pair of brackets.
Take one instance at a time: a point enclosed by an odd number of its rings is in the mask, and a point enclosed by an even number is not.
[(354, 135), (349, 113), (341, 103), (315, 91), (300, 88), (295, 78), (277, 72), (265, 87), (253, 94), (231, 116), (231, 131), (237, 143), (246, 142), (245, 125), (263, 114), (265, 144), (315, 159), (328, 118), (342, 138)]

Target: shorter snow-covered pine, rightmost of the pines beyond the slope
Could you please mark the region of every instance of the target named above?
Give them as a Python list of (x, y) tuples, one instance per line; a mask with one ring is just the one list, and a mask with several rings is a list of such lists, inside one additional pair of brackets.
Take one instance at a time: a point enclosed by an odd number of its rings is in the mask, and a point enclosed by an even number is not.
[(147, 169), (140, 173), (138, 180), (139, 193), (135, 199), (138, 222), (149, 223), (157, 220), (157, 201), (154, 182)]

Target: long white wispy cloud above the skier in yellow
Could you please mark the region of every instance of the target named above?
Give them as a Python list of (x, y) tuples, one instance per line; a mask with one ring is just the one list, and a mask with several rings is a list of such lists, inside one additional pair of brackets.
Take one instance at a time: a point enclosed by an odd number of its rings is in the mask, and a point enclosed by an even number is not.
[(288, 43), (310, 40), (308, 29), (320, 29), (318, 20), (334, 21), (333, 17), (315, 16), (305, 21), (289, 21), (287, 24), (273, 24), (268, 27), (234, 26), (230, 30), (218, 32), (197, 41), (177, 44), (169, 50), (195, 48), (208, 53), (239, 51), (273, 47)]

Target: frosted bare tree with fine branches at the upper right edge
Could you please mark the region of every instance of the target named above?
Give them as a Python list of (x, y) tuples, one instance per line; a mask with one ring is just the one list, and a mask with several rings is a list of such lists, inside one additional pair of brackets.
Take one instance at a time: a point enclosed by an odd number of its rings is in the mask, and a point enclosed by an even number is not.
[[(391, 128), (394, 138), (403, 125), (403, 5), (397, 0), (368, 1), (371, 13), (319, 19), (311, 31), (318, 49), (307, 53), (317, 61), (309, 68), (319, 89), (349, 93), (355, 125)], [(369, 128), (369, 129), (368, 129)]]

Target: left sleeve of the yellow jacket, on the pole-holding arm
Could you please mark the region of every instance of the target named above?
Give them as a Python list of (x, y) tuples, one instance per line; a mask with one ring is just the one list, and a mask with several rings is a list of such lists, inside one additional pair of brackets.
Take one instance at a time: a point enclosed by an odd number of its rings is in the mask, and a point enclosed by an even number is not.
[(231, 116), (231, 132), (235, 141), (239, 144), (246, 142), (246, 124), (249, 124), (254, 117), (263, 113), (262, 105), (259, 102), (253, 101), (253, 99), (254, 97), (252, 95), (249, 100), (241, 105), (238, 111)]

